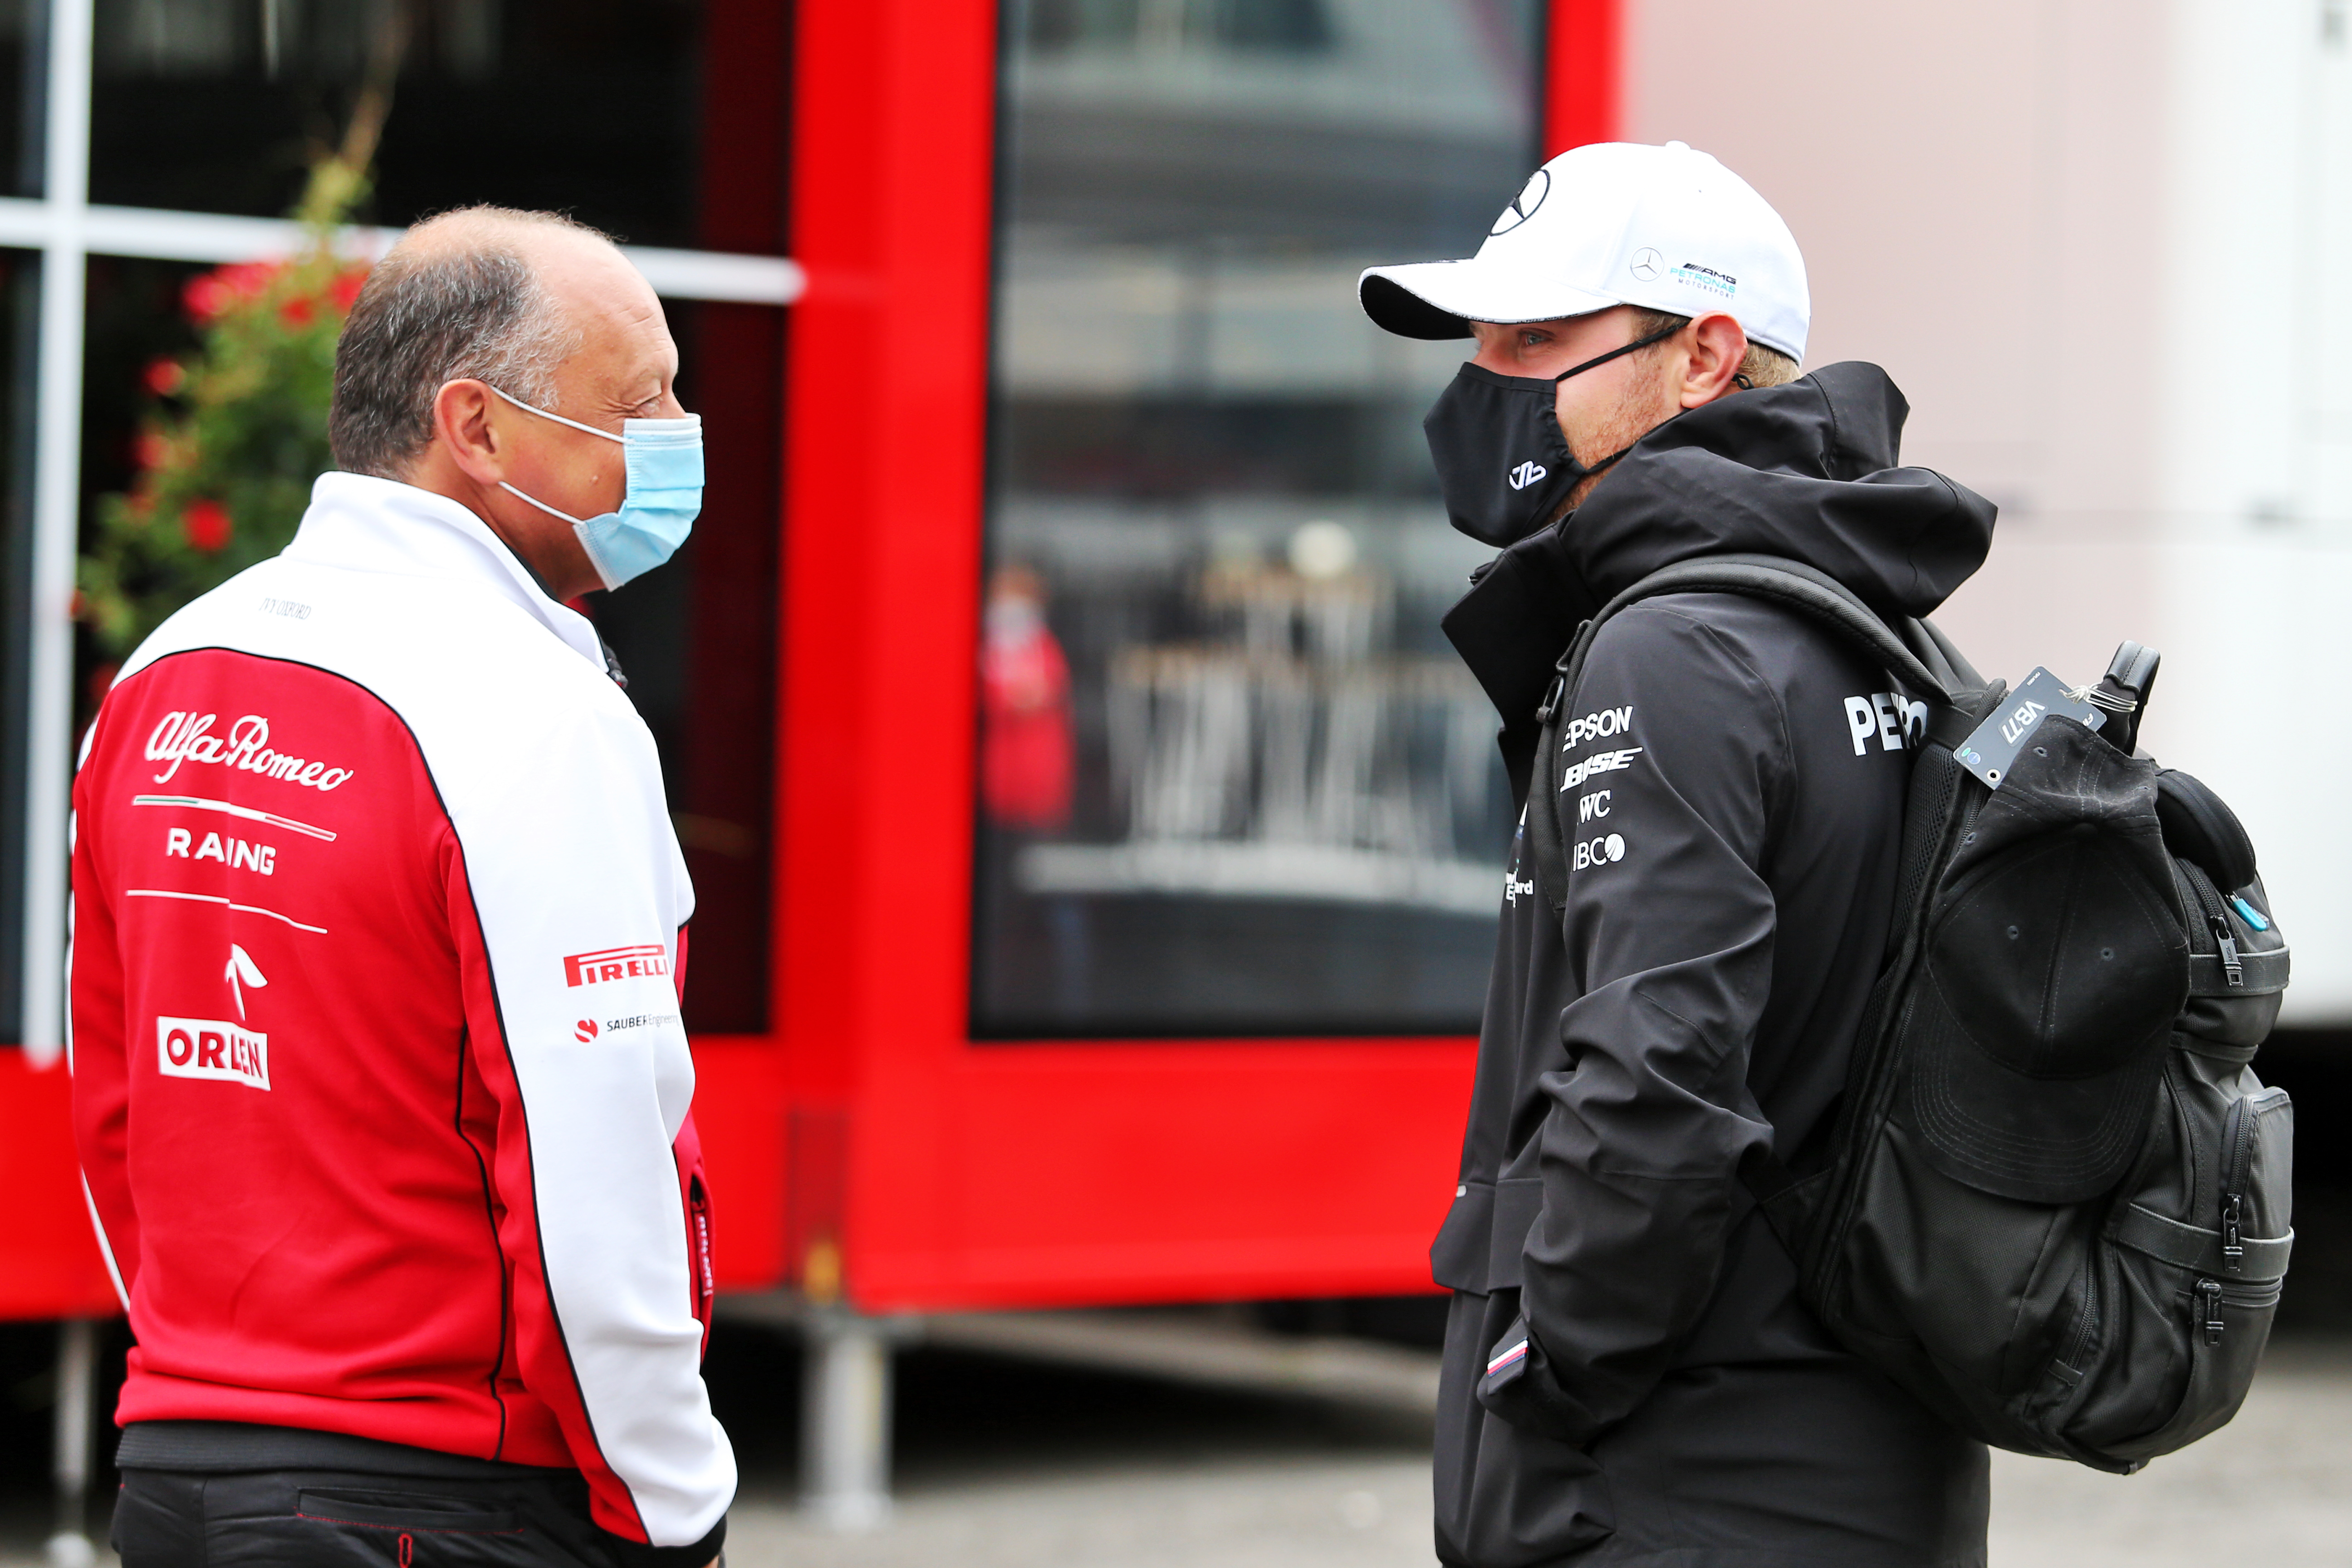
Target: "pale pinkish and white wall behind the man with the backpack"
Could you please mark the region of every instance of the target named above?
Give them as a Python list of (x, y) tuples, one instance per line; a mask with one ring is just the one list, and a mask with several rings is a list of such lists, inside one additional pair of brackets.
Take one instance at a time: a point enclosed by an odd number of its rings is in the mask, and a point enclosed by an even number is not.
[(2288, 1018), (2352, 1023), (2345, 0), (1628, 0), (1628, 134), (1780, 207), (1809, 364), (2002, 505), (1938, 621), (1987, 675), (2166, 654), (2147, 745), (2253, 830)]

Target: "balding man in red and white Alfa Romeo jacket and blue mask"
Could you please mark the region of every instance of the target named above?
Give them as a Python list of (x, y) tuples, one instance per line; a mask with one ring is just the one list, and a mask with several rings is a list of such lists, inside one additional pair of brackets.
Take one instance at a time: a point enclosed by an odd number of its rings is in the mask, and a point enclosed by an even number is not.
[(99, 710), (73, 1093), (129, 1568), (717, 1556), (694, 893), (562, 604), (666, 555), (675, 369), (602, 235), (412, 230), (343, 329), (346, 473)]

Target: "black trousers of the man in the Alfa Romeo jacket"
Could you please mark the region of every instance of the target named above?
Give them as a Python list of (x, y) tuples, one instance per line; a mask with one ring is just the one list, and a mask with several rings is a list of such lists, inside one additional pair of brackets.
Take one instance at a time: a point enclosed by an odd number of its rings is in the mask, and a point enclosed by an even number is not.
[(125, 1469), (122, 1568), (621, 1568), (576, 1472)]

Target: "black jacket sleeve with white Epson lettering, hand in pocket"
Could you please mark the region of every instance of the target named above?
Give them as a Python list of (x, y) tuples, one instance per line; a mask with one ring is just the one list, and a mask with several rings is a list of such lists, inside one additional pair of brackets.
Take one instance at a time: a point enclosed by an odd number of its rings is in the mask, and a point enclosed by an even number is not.
[(1562, 788), (1529, 811), (1555, 809), (1569, 846), (1571, 1065), (1541, 1079), (1526, 1349), (1491, 1347), (1479, 1396), (1585, 1443), (1698, 1324), (1743, 1211), (1740, 1159), (1771, 1143), (1748, 1056), (1790, 748), (1771, 686), (1670, 599), (1602, 628), (1562, 736)]

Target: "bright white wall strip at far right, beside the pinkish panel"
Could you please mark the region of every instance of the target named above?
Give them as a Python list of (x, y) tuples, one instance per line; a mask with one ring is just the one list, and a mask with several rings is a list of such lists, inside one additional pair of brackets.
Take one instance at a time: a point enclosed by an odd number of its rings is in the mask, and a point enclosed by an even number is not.
[(2326, 0), (2171, 0), (2152, 750), (2213, 783), (2296, 943), (2288, 1018), (2352, 1020), (2352, 38)]

